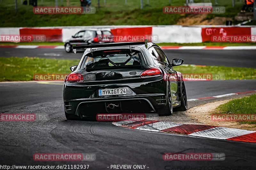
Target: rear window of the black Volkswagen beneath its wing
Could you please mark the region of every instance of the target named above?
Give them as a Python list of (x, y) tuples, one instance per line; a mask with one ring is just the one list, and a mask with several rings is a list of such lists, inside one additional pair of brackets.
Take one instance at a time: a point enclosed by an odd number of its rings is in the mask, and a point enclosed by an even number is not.
[(103, 50), (87, 54), (84, 69), (115, 69), (143, 65), (142, 53), (137, 50)]

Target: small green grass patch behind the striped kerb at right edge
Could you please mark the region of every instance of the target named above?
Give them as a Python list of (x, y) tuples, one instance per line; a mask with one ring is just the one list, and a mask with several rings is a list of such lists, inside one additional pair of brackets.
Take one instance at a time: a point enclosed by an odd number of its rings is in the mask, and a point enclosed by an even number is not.
[[(256, 114), (256, 94), (231, 100), (216, 108), (220, 114)], [(255, 121), (243, 121), (241, 124), (256, 124)]]

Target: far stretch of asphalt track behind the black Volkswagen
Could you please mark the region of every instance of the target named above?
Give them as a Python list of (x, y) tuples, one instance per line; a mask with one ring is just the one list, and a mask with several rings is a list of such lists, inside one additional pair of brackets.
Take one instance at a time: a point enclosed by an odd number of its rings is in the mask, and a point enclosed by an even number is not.
[[(64, 49), (1, 48), (0, 57), (42, 57), (57, 59), (81, 59), (83, 53), (66, 53)], [(164, 50), (169, 60), (184, 59), (184, 64), (252, 67), (255, 65), (255, 50)]]

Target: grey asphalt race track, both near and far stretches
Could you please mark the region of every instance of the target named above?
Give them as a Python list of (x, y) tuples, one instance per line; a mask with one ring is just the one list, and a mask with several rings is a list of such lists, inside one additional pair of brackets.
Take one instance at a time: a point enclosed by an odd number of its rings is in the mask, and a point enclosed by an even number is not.
[[(0, 49), (1, 56), (74, 58), (57, 49)], [(253, 50), (168, 50), (168, 56), (186, 64), (255, 67)], [(44, 53), (52, 53), (44, 55)], [(15, 54), (15, 55), (14, 55)], [(57, 54), (61, 54), (57, 56)], [(55, 56), (54, 56), (55, 55)], [(186, 81), (188, 99), (256, 90), (256, 80)], [(108, 170), (111, 165), (146, 165), (151, 170), (254, 170), (256, 144), (125, 129), (111, 122), (69, 121), (64, 116), (62, 82), (0, 83), (0, 113), (35, 113), (33, 122), (0, 122), (0, 164), (90, 165)], [(189, 107), (201, 101), (189, 102)], [(176, 113), (173, 114), (175, 116)], [(182, 122), (181, 122), (182, 123)], [(225, 153), (222, 161), (164, 161), (161, 153)], [(33, 160), (34, 153), (95, 153), (95, 161)], [(208, 166), (208, 169), (205, 168)], [(234, 168), (235, 167), (235, 168)], [(235, 170), (236, 170), (235, 169)]]

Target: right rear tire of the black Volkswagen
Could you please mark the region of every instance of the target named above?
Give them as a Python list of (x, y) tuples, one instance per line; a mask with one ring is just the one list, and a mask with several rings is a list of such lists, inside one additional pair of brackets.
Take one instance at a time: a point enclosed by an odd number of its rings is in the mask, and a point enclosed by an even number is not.
[(166, 96), (166, 105), (162, 109), (157, 109), (156, 113), (159, 116), (170, 116), (172, 115), (172, 97), (171, 97), (171, 89), (169, 84), (167, 85), (167, 96)]

